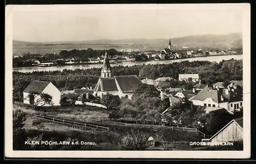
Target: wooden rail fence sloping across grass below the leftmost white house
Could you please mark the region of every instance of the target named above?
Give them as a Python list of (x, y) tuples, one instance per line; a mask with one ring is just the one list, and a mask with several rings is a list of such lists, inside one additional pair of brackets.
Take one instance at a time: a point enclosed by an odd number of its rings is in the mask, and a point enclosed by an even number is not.
[(69, 121), (69, 120), (65, 120), (65, 119), (58, 119), (58, 118), (54, 118), (54, 117), (48, 117), (48, 116), (44, 116), (44, 115), (34, 114), (34, 117), (41, 118), (41, 119), (44, 119), (44, 120), (48, 120), (48, 121), (51, 121), (51, 122), (56, 122), (56, 123), (61, 123), (61, 124), (68, 124), (68, 125), (72, 125), (72, 126), (75, 126), (75, 127), (76, 126), (77, 127), (89, 127), (89, 128), (109, 130), (109, 127), (93, 125), (93, 124), (90, 124), (90, 123), (74, 122), (74, 121)]

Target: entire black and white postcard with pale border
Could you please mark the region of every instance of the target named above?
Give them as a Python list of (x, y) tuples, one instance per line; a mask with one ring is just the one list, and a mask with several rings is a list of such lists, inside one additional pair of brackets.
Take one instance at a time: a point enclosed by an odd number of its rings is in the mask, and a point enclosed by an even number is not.
[(250, 157), (250, 4), (9, 5), (5, 156)]

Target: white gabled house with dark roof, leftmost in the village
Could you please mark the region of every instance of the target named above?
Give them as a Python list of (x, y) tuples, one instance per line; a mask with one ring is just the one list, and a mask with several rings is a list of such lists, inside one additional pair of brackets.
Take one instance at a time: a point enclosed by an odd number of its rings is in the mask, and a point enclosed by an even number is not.
[[(31, 93), (35, 94), (34, 96), (28, 97)], [(32, 81), (28, 87), (23, 91), (23, 98), (25, 104), (30, 104), (32, 101), (31, 98), (37, 100), (40, 98), (39, 94), (47, 93), (52, 96), (52, 102), (54, 106), (60, 105), (60, 95), (61, 92), (56, 88), (50, 81)], [(41, 105), (41, 104), (39, 104)], [(50, 106), (46, 104), (45, 106)]]

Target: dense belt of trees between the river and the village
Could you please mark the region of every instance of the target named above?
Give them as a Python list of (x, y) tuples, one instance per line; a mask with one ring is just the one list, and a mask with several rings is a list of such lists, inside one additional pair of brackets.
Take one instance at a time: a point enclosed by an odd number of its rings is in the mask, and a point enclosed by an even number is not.
[[(73, 90), (82, 87), (95, 87), (100, 76), (100, 68), (75, 69), (62, 71), (13, 72), (13, 96), (21, 96), (32, 80), (51, 81), (61, 90)], [(172, 64), (114, 66), (114, 75), (138, 75), (139, 78), (156, 79), (171, 76), (178, 79), (182, 73), (198, 73), (202, 84), (214, 84), (218, 81), (241, 80), (243, 77), (242, 60), (228, 60), (219, 63), (209, 61), (175, 62)], [(184, 81), (170, 81), (171, 87), (187, 86)]]

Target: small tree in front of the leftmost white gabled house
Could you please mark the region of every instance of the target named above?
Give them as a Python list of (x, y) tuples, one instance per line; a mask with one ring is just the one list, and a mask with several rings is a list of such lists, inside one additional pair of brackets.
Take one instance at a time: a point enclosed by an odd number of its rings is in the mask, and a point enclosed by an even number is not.
[(31, 107), (33, 108), (33, 110), (36, 109), (36, 107), (40, 107), (40, 106), (44, 106), (44, 105), (53, 105), (52, 102), (52, 96), (47, 94), (47, 93), (30, 93), (27, 96), (27, 99), (30, 102)]

